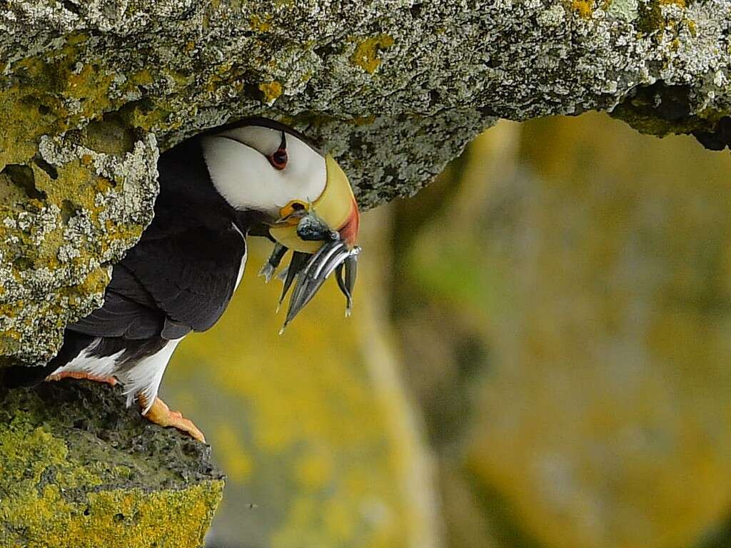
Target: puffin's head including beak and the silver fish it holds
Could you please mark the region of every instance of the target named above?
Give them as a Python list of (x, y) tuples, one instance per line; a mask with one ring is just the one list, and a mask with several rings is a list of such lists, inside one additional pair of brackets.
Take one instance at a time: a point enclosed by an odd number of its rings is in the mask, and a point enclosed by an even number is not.
[(263, 118), (213, 130), (201, 146), (216, 191), (234, 210), (257, 213), (277, 243), (262, 268), (267, 281), (287, 251), (293, 252), (280, 274), (280, 303), (295, 285), (284, 327), (333, 272), (349, 314), (360, 214), (335, 159), (295, 130)]

